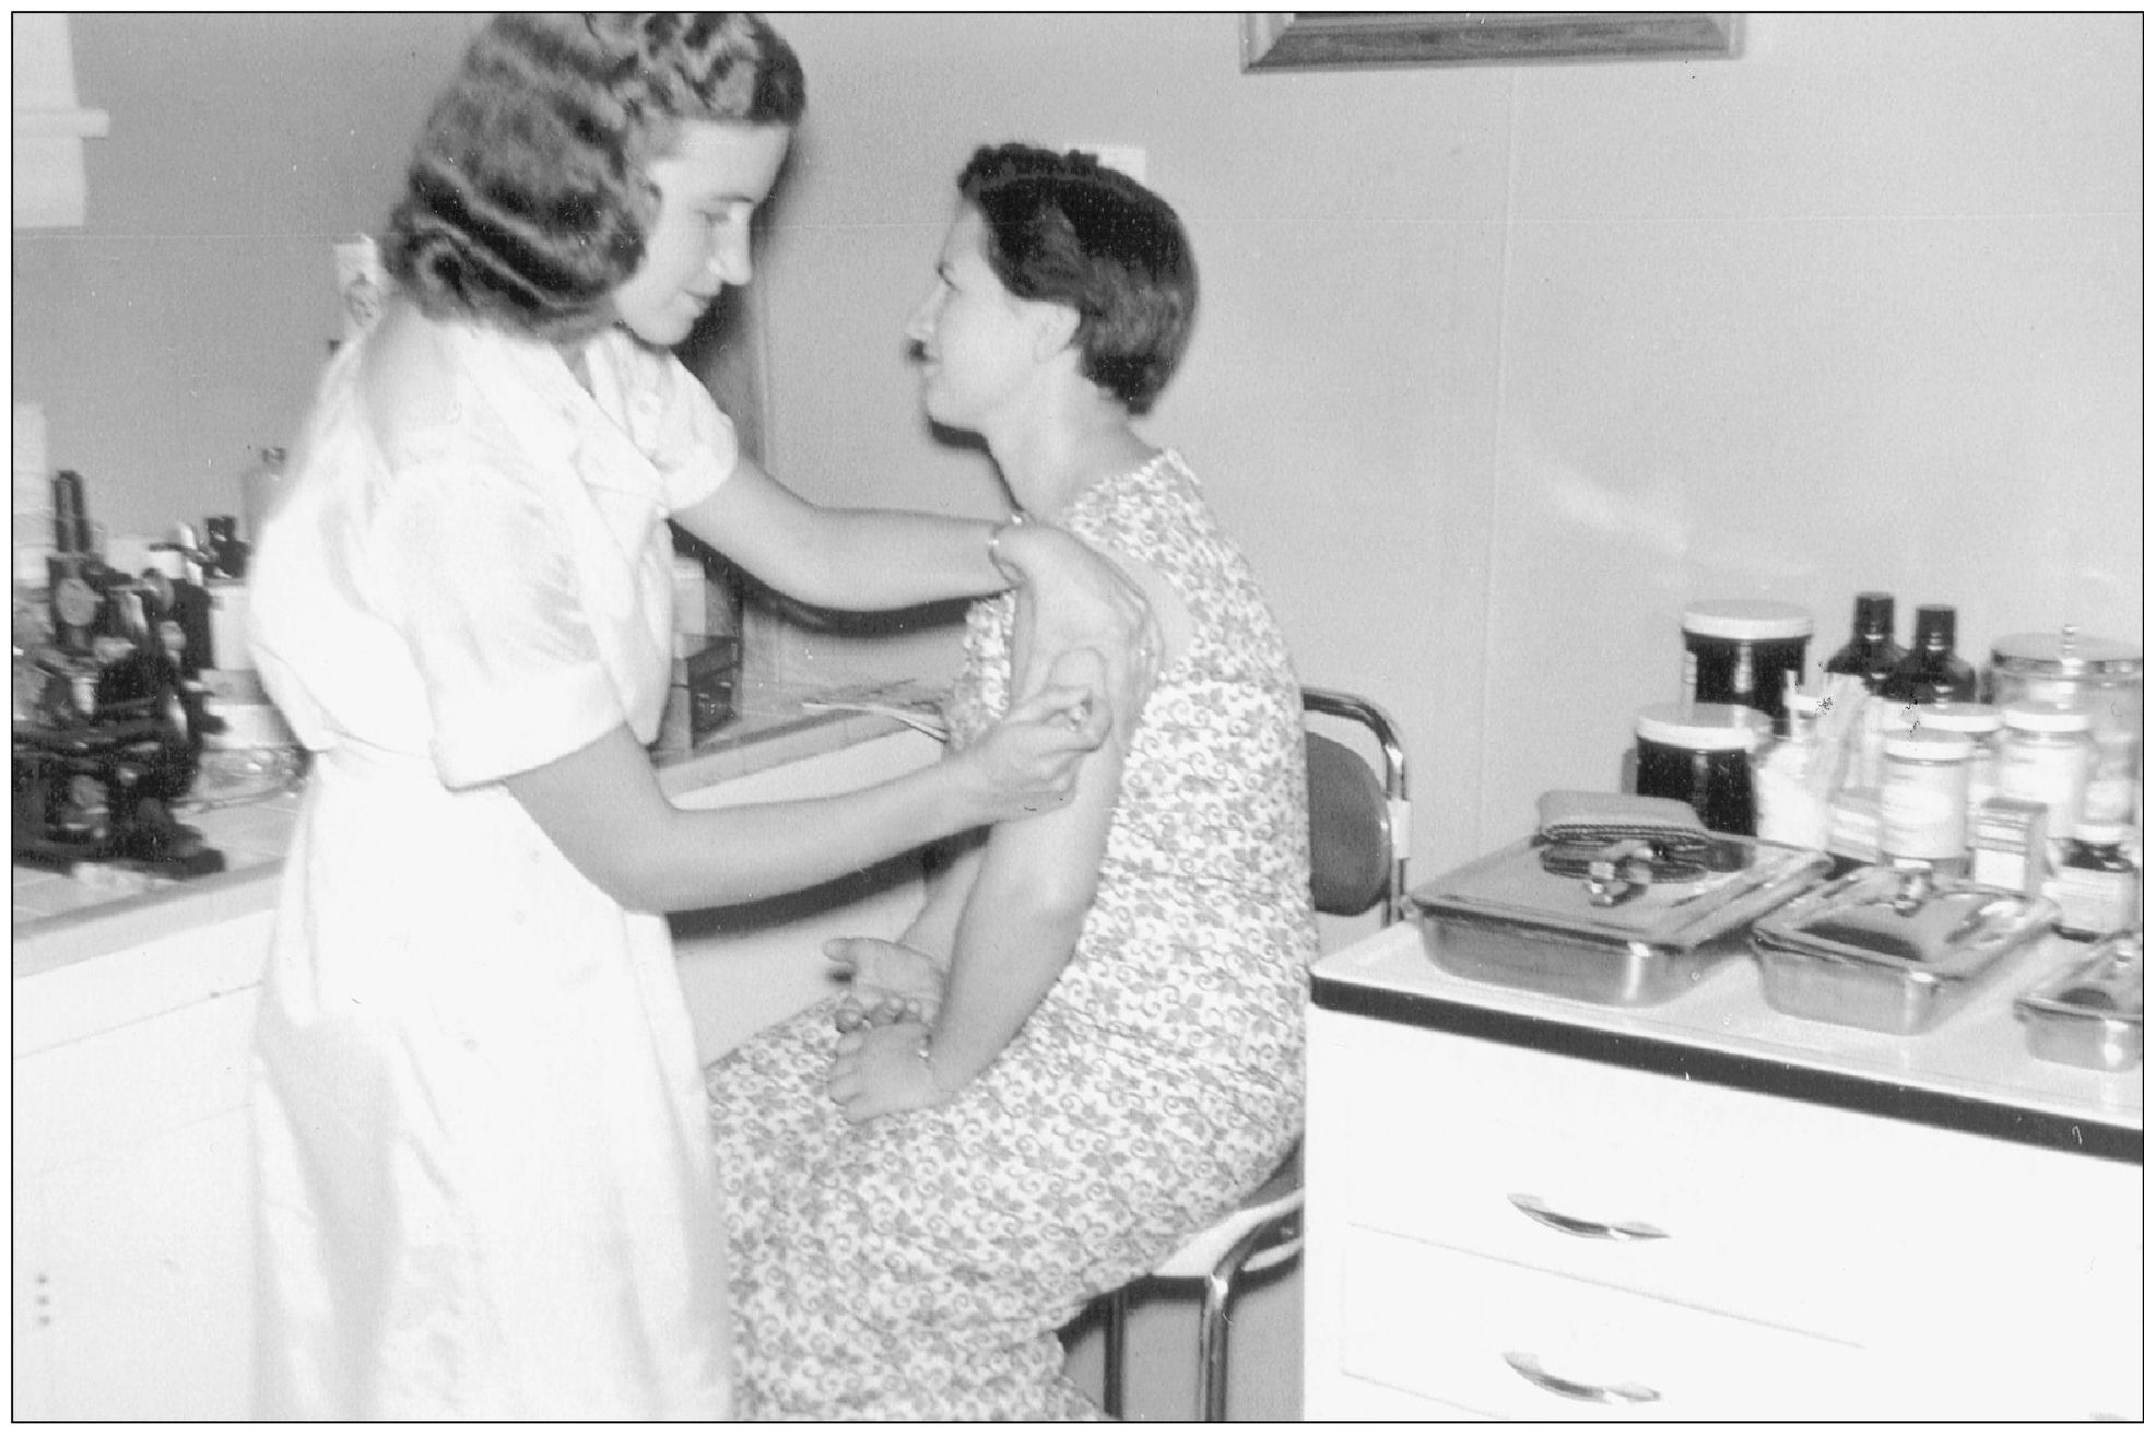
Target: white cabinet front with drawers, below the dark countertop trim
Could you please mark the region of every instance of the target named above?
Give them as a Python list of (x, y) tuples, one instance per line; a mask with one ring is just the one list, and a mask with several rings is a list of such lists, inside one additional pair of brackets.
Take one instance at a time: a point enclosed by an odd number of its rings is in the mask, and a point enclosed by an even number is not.
[(2135, 1164), (1327, 1009), (1308, 1130), (1310, 1419), (2140, 1415)]

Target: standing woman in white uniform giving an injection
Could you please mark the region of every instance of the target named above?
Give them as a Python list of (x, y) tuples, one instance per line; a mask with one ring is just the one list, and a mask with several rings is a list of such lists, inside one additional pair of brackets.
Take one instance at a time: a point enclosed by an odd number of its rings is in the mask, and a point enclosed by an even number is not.
[[(253, 579), (315, 752), (255, 1048), (264, 1417), (727, 1415), (662, 913), (1063, 802), (1151, 677), (1151, 624), (1068, 536), (813, 508), (671, 358), (750, 276), (802, 107), (750, 17), (504, 15), (418, 139), (397, 298), (330, 364)], [(821, 604), (1025, 577), (1036, 654), (1108, 675), (1031, 682), (976, 754), (877, 789), (675, 810), (645, 752), (665, 521)]]

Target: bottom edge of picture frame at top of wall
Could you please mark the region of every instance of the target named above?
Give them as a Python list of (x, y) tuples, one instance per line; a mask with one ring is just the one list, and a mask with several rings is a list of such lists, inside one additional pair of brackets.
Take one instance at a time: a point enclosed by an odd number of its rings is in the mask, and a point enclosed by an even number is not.
[(1741, 15), (1707, 11), (1252, 11), (1244, 71), (1578, 60), (1726, 60)]

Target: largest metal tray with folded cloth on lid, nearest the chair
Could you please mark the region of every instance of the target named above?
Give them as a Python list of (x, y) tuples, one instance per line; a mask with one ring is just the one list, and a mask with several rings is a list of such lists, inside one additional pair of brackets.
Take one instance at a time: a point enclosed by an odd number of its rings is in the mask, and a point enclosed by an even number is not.
[(1610, 1007), (1687, 992), (1750, 922), (1822, 881), (1825, 853), (1704, 834), (1569, 844), (1531, 836), (1409, 896), (1447, 973)]

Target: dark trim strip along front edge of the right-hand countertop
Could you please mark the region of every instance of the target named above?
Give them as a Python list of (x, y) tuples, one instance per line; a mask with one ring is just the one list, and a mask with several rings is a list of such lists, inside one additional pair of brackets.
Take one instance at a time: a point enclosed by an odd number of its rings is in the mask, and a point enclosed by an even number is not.
[(1803, 1067), (1767, 1057), (1722, 1052), (1662, 1037), (1610, 1033), (1578, 1022), (1475, 1007), (1473, 1003), (1458, 1003), (1426, 992), (1394, 992), (1319, 973), (1310, 975), (1310, 1001), (1327, 1012), (1400, 1022), (1458, 1037), (1482, 1037), (1486, 1042), (1578, 1057), (1610, 1067), (1657, 1072), (1692, 1082), (1752, 1091), (1765, 1097), (1870, 1112), (1923, 1127), (1947, 1127), (1951, 1132), (1992, 1136), (2005, 1142), (2048, 1147), (2108, 1162), (2144, 1164), (2144, 1134), (2112, 1123), (2060, 1117), (2005, 1102), (1927, 1091), (1902, 1082)]

